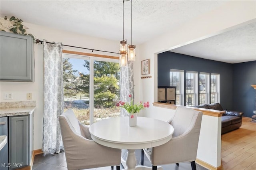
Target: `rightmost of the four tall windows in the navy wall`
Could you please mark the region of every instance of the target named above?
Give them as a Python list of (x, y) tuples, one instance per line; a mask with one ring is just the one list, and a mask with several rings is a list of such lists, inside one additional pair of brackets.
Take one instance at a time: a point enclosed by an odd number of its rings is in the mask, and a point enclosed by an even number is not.
[(211, 74), (211, 103), (220, 103), (220, 75)]

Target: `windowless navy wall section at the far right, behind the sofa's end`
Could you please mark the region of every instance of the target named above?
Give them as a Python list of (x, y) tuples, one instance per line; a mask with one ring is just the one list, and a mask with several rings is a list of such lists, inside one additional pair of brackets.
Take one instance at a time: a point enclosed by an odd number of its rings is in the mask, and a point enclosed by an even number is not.
[(256, 61), (233, 64), (233, 109), (252, 117), (256, 107)]

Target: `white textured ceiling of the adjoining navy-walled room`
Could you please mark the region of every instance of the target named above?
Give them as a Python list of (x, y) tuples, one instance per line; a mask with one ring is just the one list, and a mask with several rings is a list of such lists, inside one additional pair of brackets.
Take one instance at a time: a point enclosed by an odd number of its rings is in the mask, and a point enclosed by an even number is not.
[(226, 63), (256, 60), (256, 23), (170, 50)]

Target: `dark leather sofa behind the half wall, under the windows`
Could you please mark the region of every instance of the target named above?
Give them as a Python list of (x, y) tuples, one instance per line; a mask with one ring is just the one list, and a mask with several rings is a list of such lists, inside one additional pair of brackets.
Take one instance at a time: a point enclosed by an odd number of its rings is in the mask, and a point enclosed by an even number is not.
[(223, 110), (220, 103), (204, 104), (196, 107), (225, 111), (225, 113), (221, 117), (221, 134), (240, 128), (240, 126), (242, 125), (242, 117), (244, 113), (238, 111)]

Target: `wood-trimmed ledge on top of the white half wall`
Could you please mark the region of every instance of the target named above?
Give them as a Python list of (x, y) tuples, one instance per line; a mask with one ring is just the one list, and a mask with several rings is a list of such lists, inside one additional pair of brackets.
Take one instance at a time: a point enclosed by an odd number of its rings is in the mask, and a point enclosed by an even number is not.
[[(173, 104), (169, 104), (169, 103), (155, 102), (155, 103), (153, 103), (153, 106), (175, 110), (180, 105), (173, 105)], [(225, 113), (225, 111), (217, 111), (217, 110), (213, 110), (213, 109), (204, 109), (204, 108), (190, 107), (190, 106), (184, 106), (184, 107), (194, 109), (194, 110), (197, 110), (197, 111), (202, 111), (203, 115), (208, 115), (208, 116), (213, 116), (213, 117), (222, 117), (222, 114)]]

